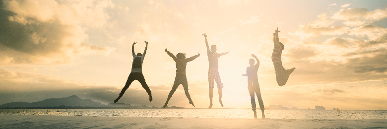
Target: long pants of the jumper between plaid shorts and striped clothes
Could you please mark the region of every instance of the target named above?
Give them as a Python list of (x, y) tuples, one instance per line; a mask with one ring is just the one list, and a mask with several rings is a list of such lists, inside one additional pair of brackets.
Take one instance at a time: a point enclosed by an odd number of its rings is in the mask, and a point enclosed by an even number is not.
[(265, 110), (263, 107), (263, 101), (262, 97), (260, 96), (260, 88), (258, 81), (249, 82), (249, 86), (247, 87), (249, 89), (250, 97), (251, 97), (251, 107), (253, 108), (253, 111), (256, 111), (256, 98), (254, 96), (254, 92), (257, 94), (259, 108), (261, 111)]

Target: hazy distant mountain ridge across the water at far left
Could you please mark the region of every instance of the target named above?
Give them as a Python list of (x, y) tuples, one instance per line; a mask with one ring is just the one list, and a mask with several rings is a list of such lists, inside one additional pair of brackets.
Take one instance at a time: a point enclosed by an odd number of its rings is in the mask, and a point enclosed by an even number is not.
[(52, 98), (45, 99), (43, 101), (27, 103), (27, 102), (12, 102), (1, 105), (1, 108), (12, 108), (12, 107), (105, 107), (106, 105), (99, 102), (94, 102), (90, 99), (81, 99), (76, 95), (64, 97), (64, 98)]

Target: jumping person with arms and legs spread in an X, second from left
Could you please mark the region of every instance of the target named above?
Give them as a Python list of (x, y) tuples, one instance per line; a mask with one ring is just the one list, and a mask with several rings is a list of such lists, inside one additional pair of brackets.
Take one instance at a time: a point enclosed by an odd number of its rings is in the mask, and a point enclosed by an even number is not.
[(184, 53), (179, 53), (175, 57), (175, 55), (173, 55), (171, 52), (169, 52), (167, 50), (167, 48), (165, 49), (165, 52), (167, 52), (167, 54), (169, 56), (171, 56), (172, 59), (176, 62), (176, 77), (175, 77), (175, 82), (173, 83), (171, 92), (169, 92), (167, 102), (165, 102), (163, 108), (167, 107), (169, 99), (171, 99), (173, 93), (175, 93), (177, 87), (180, 84), (183, 85), (184, 92), (186, 92), (186, 96), (187, 96), (188, 100), (190, 101), (190, 104), (192, 104), (192, 106), (195, 107), (194, 102), (192, 102), (192, 100), (191, 100), (190, 93), (188, 92), (188, 81), (187, 81), (187, 75), (186, 75), (186, 67), (187, 67), (187, 63), (194, 61), (197, 57), (200, 56), (200, 53), (198, 53), (197, 55), (195, 55), (191, 58), (186, 58), (186, 54), (184, 54)]

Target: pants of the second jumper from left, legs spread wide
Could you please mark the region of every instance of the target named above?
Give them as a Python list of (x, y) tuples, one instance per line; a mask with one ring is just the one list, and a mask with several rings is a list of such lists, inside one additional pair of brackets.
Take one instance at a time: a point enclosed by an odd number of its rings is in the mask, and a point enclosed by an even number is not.
[(178, 74), (178, 75), (176, 75), (176, 77), (175, 77), (175, 82), (173, 83), (171, 92), (169, 92), (167, 102), (165, 102), (166, 104), (168, 103), (169, 99), (172, 98), (173, 93), (175, 93), (177, 87), (179, 87), (180, 84), (183, 85), (184, 92), (186, 92), (186, 96), (187, 96), (188, 100), (189, 100), (190, 102), (192, 102), (190, 93), (188, 92), (188, 81), (187, 81), (187, 76), (184, 75), (184, 74)]

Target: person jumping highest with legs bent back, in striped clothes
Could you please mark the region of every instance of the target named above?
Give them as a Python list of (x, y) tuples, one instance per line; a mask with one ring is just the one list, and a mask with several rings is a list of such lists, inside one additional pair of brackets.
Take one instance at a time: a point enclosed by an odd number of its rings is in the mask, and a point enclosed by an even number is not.
[(275, 79), (277, 80), (279, 86), (283, 86), (288, 81), (290, 74), (296, 68), (293, 67), (291, 69), (285, 70), (285, 68), (282, 66), (282, 50), (285, 49), (285, 46), (281, 42), (279, 42), (278, 32), (280, 31), (278, 31), (277, 28), (277, 30), (275, 30), (275, 33), (273, 33), (274, 49), (273, 53), (271, 54), (271, 61), (274, 65)]

